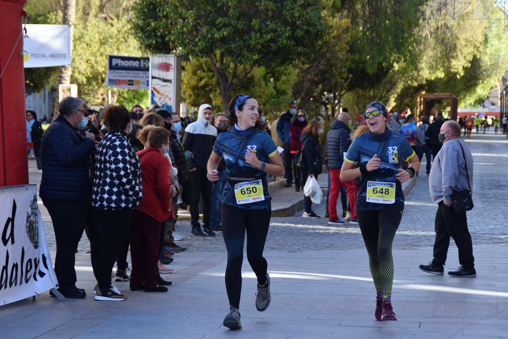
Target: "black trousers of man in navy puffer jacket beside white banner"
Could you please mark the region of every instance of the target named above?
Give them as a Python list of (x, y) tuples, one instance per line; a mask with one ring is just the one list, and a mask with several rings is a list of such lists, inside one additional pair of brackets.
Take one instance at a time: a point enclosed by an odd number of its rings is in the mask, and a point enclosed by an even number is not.
[[(77, 200), (43, 199), (51, 216), (56, 241), (55, 274), (59, 287), (76, 285), (74, 264), (78, 243), (91, 205)], [(93, 225), (90, 225), (93, 227)]]

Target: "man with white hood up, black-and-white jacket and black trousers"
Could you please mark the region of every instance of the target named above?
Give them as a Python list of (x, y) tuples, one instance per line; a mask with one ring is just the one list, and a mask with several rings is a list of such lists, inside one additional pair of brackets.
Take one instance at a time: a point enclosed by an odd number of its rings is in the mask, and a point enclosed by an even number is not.
[[(201, 105), (198, 121), (185, 127), (182, 138), (183, 149), (190, 152), (193, 157), (193, 165), (189, 166), (189, 173), (193, 182), (190, 223), (192, 224), (192, 234), (194, 236), (215, 235), (210, 228), (212, 183), (206, 178), (206, 164), (217, 138), (217, 128), (210, 124), (211, 119), (212, 107), (208, 104)], [(199, 223), (200, 194), (203, 199), (203, 230), (201, 230), (201, 224)]]

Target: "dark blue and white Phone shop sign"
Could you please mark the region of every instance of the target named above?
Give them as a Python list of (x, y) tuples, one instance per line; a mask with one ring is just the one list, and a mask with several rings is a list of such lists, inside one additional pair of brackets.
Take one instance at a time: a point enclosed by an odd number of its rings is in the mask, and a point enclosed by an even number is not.
[(148, 89), (150, 58), (108, 55), (106, 86), (116, 88)]

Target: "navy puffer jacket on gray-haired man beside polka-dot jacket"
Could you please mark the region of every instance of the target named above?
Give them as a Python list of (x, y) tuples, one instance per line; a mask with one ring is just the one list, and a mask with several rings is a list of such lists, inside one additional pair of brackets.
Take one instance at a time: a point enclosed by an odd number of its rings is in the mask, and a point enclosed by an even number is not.
[(95, 143), (59, 115), (42, 137), (42, 199), (90, 202)]

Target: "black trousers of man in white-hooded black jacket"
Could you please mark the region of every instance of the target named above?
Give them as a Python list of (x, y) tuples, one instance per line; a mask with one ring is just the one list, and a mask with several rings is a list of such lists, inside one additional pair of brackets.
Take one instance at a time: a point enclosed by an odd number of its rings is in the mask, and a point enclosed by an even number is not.
[(193, 183), (192, 201), (190, 201), (190, 224), (192, 228), (200, 227), (199, 223), (199, 200), (200, 194), (203, 199), (203, 226), (210, 226), (212, 213), (212, 188), (213, 184), (206, 178), (206, 169), (197, 168), (189, 172)]

